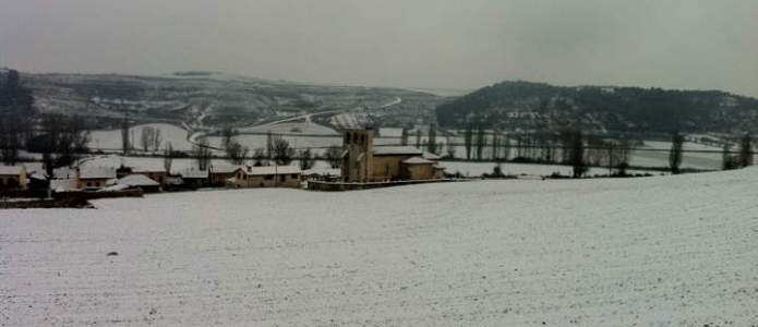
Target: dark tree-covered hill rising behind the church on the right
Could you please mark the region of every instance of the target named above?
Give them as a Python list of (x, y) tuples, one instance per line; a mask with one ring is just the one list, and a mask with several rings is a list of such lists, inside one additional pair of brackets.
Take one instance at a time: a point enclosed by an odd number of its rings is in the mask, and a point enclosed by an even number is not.
[(758, 130), (758, 99), (718, 90), (503, 82), (443, 104), (436, 114), (447, 128), (481, 122), (504, 130), (567, 125), (635, 133)]

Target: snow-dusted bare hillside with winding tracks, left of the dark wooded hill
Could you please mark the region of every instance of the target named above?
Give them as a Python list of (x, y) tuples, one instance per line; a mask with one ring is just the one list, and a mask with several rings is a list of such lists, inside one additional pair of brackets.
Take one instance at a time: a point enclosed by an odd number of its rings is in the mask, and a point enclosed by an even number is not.
[[(368, 112), (380, 124), (392, 124), (429, 120), (440, 102), (431, 94), (398, 88), (312, 85), (213, 72), (165, 76), (25, 73), (22, 80), (41, 111), (79, 113), (104, 124), (117, 124), (124, 111), (137, 122), (192, 129), (353, 111)], [(372, 111), (387, 104), (396, 105)], [(393, 111), (402, 114), (387, 117)], [(321, 119), (328, 122), (328, 116)]]

